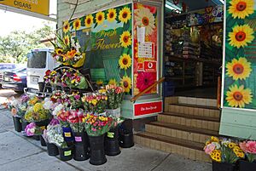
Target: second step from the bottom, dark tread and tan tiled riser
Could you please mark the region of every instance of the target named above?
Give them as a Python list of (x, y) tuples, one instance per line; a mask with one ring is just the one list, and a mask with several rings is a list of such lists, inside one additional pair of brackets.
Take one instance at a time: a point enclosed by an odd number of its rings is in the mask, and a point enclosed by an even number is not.
[(202, 128), (191, 128), (172, 123), (148, 123), (145, 125), (146, 132), (152, 134), (161, 134), (169, 137), (177, 137), (182, 140), (189, 140), (198, 143), (205, 143), (211, 136), (218, 136), (218, 131), (212, 131)]

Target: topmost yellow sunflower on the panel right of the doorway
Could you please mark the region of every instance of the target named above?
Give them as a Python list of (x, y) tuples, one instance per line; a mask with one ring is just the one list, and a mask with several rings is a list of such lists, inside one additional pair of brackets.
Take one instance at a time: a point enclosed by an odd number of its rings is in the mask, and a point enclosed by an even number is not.
[(253, 0), (231, 0), (229, 13), (232, 14), (234, 19), (244, 19), (254, 11)]

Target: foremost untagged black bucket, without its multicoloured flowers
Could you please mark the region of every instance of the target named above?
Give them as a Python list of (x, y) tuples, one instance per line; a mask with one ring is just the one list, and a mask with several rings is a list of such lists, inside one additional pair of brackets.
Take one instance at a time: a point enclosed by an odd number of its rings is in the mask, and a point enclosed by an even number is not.
[(107, 162), (104, 151), (104, 134), (89, 136), (90, 140), (90, 164), (102, 165)]

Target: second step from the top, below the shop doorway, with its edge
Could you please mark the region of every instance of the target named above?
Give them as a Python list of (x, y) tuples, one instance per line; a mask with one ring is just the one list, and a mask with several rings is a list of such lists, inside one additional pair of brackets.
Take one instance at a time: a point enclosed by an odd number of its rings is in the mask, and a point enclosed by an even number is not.
[(192, 116), (220, 118), (220, 110), (217, 107), (207, 105), (169, 104), (165, 106), (166, 112), (183, 113)]

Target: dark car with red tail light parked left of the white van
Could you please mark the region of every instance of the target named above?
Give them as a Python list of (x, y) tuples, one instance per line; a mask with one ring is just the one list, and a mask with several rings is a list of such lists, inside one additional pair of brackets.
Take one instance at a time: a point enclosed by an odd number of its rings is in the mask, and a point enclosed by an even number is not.
[(26, 68), (16, 68), (13, 71), (3, 72), (3, 88), (15, 90), (15, 92), (23, 92), (26, 88)]

